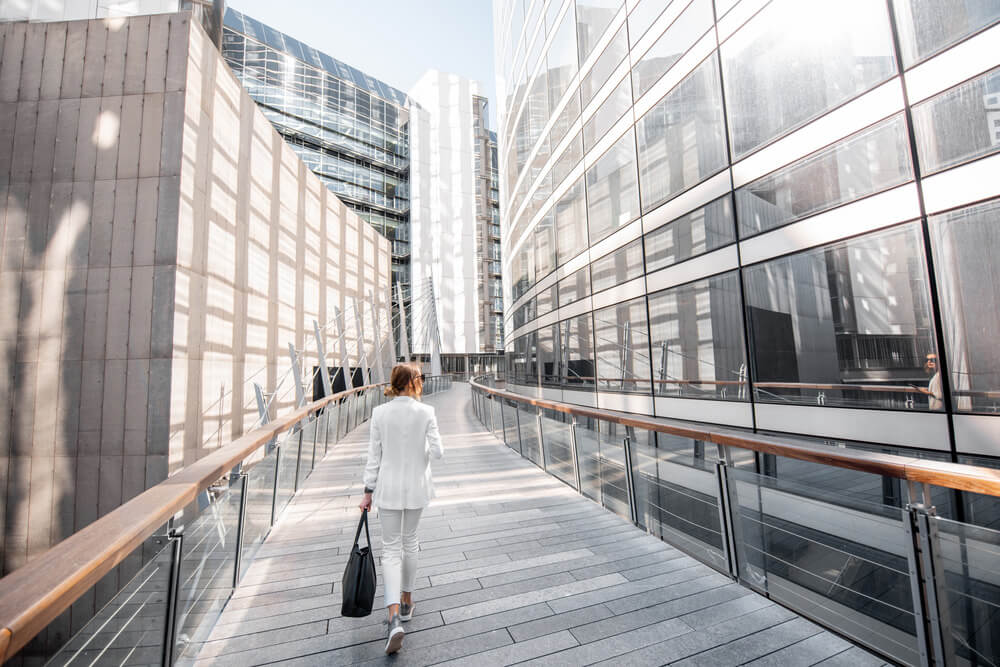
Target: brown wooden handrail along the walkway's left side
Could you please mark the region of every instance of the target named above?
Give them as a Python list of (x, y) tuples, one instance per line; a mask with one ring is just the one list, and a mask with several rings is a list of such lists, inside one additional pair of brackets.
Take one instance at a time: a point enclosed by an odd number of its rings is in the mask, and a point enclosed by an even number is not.
[(0, 663), (13, 657), (157, 528), (259, 447), (334, 401), (383, 386), (365, 385), (325, 396), (240, 436), (0, 579)]

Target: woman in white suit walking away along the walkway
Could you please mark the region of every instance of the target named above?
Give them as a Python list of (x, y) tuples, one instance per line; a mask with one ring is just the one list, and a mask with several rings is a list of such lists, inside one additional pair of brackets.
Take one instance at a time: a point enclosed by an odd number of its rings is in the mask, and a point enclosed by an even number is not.
[(403, 624), (413, 618), (417, 576), (417, 524), (434, 497), (431, 459), (441, 458), (434, 408), (420, 403), (424, 376), (410, 364), (392, 369), (385, 395), (393, 400), (372, 411), (365, 497), (361, 509), (378, 506), (382, 524), (382, 578), (389, 634), (385, 652), (403, 645)]

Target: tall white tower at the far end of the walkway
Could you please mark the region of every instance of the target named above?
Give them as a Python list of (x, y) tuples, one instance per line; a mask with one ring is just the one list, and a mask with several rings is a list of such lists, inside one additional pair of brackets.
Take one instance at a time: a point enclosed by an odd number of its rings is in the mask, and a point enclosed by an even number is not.
[(410, 90), (411, 347), (442, 369), (498, 370), (503, 349), (496, 141), (476, 82), (435, 70)]

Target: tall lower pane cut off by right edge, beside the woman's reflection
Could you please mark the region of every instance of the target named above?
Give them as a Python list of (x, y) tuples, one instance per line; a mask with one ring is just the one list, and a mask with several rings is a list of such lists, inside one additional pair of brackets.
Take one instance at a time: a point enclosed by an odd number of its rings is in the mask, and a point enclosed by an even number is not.
[(1000, 200), (930, 218), (952, 407), (1000, 412)]

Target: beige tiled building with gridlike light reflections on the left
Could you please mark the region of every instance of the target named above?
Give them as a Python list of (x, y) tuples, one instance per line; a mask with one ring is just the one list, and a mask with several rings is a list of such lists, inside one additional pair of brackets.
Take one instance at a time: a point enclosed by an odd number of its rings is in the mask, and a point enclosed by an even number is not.
[(315, 367), (314, 320), (347, 313), (345, 365), (375, 366), (391, 248), (190, 12), (0, 22), (0, 44), (7, 573), (251, 428), (254, 382), (294, 405), (282, 373), (289, 346)]

